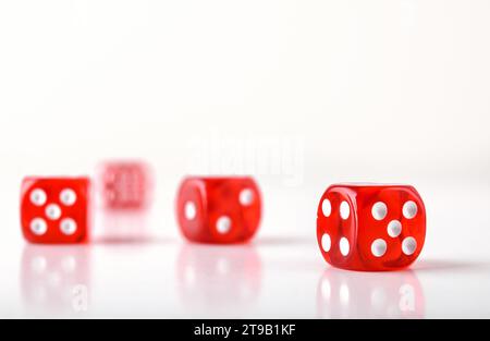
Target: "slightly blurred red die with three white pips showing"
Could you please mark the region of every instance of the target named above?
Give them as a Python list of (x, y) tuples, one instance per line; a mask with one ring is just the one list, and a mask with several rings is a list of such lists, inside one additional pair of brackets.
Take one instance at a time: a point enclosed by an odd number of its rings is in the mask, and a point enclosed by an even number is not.
[(246, 242), (258, 230), (261, 199), (250, 178), (188, 178), (181, 185), (177, 220), (193, 242)]

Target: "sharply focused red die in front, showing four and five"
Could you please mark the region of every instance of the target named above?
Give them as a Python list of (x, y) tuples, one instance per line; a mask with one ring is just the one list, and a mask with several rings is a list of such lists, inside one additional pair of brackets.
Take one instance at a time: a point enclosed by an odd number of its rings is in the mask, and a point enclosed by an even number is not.
[(338, 268), (405, 268), (424, 246), (424, 202), (407, 185), (332, 185), (318, 207), (317, 238), (324, 259)]

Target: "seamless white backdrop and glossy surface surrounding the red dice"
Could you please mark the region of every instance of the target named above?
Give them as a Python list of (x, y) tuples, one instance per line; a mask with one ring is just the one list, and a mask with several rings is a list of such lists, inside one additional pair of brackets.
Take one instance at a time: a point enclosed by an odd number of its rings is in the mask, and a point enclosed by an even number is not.
[[(411, 283), (407, 317), (490, 317), (489, 16), (483, 0), (1, 1), (0, 316), (392, 317)], [(26, 245), (22, 178), (111, 158), (146, 160), (157, 183), (146, 217), (96, 211), (122, 242)], [(181, 178), (236, 172), (265, 194), (256, 241), (186, 244)], [(324, 264), (317, 202), (340, 181), (419, 190), (412, 272)], [(86, 312), (56, 289), (74, 284)]]

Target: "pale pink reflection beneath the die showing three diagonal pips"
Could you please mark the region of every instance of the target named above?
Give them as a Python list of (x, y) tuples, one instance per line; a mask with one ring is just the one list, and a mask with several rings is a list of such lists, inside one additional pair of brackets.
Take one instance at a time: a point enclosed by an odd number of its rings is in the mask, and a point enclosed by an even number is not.
[(179, 293), (194, 313), (233, 314), (258, 297), (261, 261), (250, 245), (186, 244), (177, 258)]

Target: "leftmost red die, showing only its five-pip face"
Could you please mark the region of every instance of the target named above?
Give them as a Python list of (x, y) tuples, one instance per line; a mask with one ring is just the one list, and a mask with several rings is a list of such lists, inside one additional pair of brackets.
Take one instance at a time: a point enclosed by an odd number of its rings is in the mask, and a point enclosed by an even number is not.
[(21, 223), (32, 243), (83, 243), (88, 235), (87, 178), (26, 178)]

